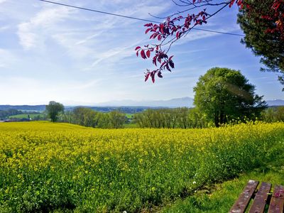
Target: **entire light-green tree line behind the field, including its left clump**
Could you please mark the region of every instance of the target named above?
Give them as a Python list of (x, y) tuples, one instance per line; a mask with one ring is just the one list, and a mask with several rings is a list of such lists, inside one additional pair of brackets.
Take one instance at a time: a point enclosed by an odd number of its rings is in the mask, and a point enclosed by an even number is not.
[[(247, 117), (239, 116), (230, 119), (226, 117), (226, 124), (238, 124), (244, 121), (284, 121), (284, 107), (269, 107), (261, 114), (253, 114)], [(87, 107), (77, 107), (72, 111), (61, 111), (58, 114), (58, 121), (89, 126), (101, 129), (119, 129), (126, 124), (126, 114), (119, 111), (109, 113), (94, 111)], [(157, 128), (157, 129), (191, 129), (207, 128), (216, 126), (214, 119), (204, 114), (197, 108), (175, 108), (175, 109), (146, 109), (134, 114), (131, 120), (138, 128)]]

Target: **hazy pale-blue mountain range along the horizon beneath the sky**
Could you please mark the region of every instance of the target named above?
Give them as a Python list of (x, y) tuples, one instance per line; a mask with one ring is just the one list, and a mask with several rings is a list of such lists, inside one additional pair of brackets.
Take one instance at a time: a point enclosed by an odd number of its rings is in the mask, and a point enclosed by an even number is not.
[[(266, 101), (268, 106), (284, 106), (284, 100), (275, 99)], [(67, 109), (73, 109), (77, 106), (66, 106)], [(145, 101), (133, 101), (133, 100), (121, 100), (102, 102), (98, 104), (90, 104), (91, 108), (117, 108), (117, 107), (193, 107), (193, 99), (190, 97), (182, 97), (169, 100), (145, 100)], [(17, 109), (21, 111), (44, 111), (45, 105), (0, 105), (0, 110)]]

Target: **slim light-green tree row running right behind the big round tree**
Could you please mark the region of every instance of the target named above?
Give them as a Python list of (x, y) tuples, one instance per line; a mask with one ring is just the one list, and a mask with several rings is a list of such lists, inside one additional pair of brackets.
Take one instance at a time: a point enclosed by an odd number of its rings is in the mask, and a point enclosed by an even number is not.
[[(229, 119), (226, 124), (239, 124), (246, 121), (264, 121), (268, 123), (284, 121), (284, 107), (269, 107), (261, 114), (236, 117)], [(134, 114), (133, 123), (139, 128), (158, 129), (190, 129), (207, 128), (215, 126), (214, 121), (198, 111), (197, 108), (175, 108), (175, 109), (147, 109), (141, 113)]]

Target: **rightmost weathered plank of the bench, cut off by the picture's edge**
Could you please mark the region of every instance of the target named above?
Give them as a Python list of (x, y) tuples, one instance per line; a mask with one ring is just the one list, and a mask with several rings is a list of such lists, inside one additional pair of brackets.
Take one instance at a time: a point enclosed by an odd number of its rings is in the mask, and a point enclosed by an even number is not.
[(284, 207), (284, 187), (276, 185), (271, 197), (268, 213), (283, 213)]

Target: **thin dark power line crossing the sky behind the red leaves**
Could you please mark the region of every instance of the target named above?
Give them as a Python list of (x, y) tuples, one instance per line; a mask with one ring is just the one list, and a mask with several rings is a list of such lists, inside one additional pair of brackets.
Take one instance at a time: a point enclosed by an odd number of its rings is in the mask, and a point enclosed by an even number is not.
[[(121, 18), (130, 18), (130, 19), (134, 19), (134, 20), (138, 20), (138, 21), (146, 21), (146, 22), (151, 22), (151, 23), (160, 23), (158, 21), (151, 21), (151, 20), (147, 20), (147, 19), (143, 19), (143, 18), (136, 18), (136, 17), (133, 17), (133, 16), (123, 16), (123, 15), (116, 14), (116, 13), (109, 13), (109, 12), (106, 12), (106, 11), (98, 11), (98, 10), (88, 9), (88, 8), (84, 8), (84, 7), (80, 7), (80, 6), (74, 6), (74, 5), (70, 5), (70, 4), (62, 4), (62, 3), (55, 2), (55, 1), (47, 1), (47, 0), (38, 0), (38, 1), (44, 1), (44, 2), (50, 3), (50, 4), (57, 4), (57, 5), (60, 5), (60, 6), (67, 6), (67, 7), (80, 9), (80, 10), (84, 10), (84, 11), (91, 11), (91, 12), (95, 12), (95, 13), (103, 13), (103, 14), (107, 14), (107, 15), (110, 15), (110, 16), (118, 16), (118, 17), (121, 17)], [(205, 32), (210, 32), (210, 33), (219, 33), (219, 34), (225, 34), (225, 35), (235, 35), (235, 36), (244, 37), (244, 35), (237, 34), (237, 33), (226, 33), (226, 32), (206, 30), (206, 29), (201, 29), (201, 28), (192, 28), (192, 29), (193, 30), (197, 30), (197, 31), (205, 31)]]

